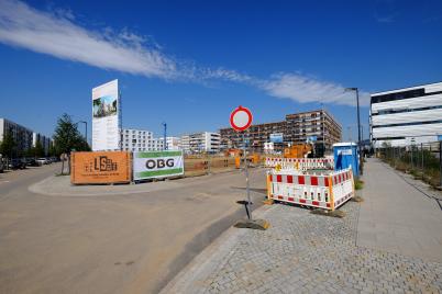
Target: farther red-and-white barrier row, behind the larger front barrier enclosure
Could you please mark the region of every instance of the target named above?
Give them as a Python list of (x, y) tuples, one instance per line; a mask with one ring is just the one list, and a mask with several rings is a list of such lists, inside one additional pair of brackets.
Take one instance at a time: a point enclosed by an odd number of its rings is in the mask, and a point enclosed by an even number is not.
[(266, 168), (275, 168), (279, 166), (281, 169), (327, 169), (331, 170), (334, 167), (333, 158), (276, 158), (267, 157), (265, 159)]

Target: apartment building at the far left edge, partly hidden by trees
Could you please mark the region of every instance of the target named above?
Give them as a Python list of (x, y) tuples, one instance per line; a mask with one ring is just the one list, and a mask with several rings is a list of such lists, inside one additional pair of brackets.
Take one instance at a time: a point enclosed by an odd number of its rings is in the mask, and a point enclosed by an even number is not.
[(3, 140), (5, 134), (11, 134), (14, 139), (15, 147), (12, 150), (12, 157), (22, 157), (32, 147), (33, 132), (27, 127), (19, 125), (7, 118), (0, 118), (0, 140)]

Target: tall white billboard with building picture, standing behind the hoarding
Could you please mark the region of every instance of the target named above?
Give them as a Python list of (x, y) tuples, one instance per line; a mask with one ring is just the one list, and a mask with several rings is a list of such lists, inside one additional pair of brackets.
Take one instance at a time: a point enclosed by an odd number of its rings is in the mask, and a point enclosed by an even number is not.
[(92, 150), (120, 149), (118, 80), (92, 89)]

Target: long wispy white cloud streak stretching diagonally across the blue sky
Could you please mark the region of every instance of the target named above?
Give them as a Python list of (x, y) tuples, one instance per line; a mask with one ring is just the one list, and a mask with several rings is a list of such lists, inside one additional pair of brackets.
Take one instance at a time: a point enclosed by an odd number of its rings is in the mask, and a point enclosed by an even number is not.
[[(213, 69), (194, 61), (178, 61), (164, 54), (152, 38), (129, 30), (87, 30), (75, 21), (70, 10), (40, 11), (16, 0), (0, 0), (0, 43), (132, 75), (202, 83), (229, 81), (301, 103), (355, 104), (354, 93), (345, 93), (338, 83), (289, 72), (262, 79), (222, 67)], [(363, 105), (367, 104), (367, 97), (362, 93)]]

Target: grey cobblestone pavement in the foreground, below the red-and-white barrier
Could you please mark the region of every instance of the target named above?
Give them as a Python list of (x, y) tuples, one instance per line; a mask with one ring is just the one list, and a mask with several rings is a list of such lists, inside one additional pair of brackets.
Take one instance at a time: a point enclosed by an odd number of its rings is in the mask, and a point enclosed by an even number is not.
[[(273, 205), (269, 229), (232, 228), (167, 293), (442, 293), (442, 263), (356, 247), (360, 204), (344, 218)], [(229, 235), (230, 234), (230, 235)]]

